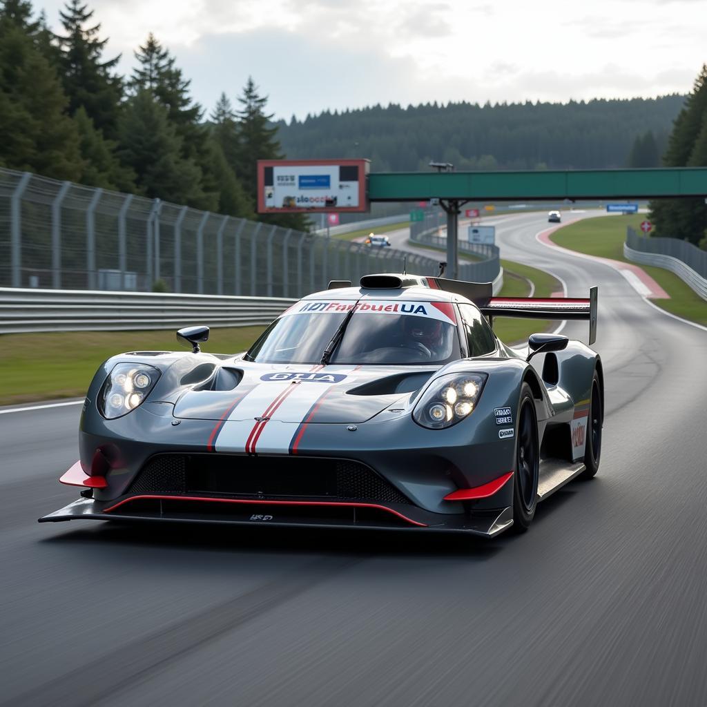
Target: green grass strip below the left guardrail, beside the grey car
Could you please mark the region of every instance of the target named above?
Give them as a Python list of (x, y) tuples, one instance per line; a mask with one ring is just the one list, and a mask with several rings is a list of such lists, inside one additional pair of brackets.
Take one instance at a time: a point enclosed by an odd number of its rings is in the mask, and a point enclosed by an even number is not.
[[(219, 354), (244, 351), (264, 327), (211, 329), (202, 347)], [(51, 332), (0, 337), (0, 404), (86, 394), (95, 370), (122, 351), (178, 349), (169, 329), (150, 332)], [(186, 350), (186, 349), (185, 349)]]

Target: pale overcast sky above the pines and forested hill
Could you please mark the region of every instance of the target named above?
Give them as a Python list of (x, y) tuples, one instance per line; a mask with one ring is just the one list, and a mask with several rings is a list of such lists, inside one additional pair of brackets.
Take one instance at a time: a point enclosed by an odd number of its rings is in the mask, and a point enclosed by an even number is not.
[[(381, 103), (686, 93), (706, 0), (86, 0), (108, 56), (152, 31), (209, 112), (252, 75), (276, 117)], [(35, 0), (56, 28), (62, 0)]]

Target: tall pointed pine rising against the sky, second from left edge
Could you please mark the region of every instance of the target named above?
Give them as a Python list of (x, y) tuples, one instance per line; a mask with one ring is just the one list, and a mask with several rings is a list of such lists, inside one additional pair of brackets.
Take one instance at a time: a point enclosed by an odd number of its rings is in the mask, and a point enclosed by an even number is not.
[[(93, 10), (81, 0), (68, 0), (59, 12), (63, 35), (57, 35), (62, 51), (60, 69), (64, 90), (69, 96), (69, 112), (83, 106), (93, 124), (106, 137), (116, 136), (122, 80), (112, 74), (120, 56), (102, 61), (107, 39), (98, 39), (100, 24), (90, 26)], [(88, 25), (88, 26), (87, 26)]]

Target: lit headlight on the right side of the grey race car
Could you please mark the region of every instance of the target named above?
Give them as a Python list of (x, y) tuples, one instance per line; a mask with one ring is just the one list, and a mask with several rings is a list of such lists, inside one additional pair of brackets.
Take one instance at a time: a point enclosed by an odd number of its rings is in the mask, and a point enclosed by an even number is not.
[(412, 412), (412, 419), (431, 429), (451, 427), (472, 414), (486, 378), (486, 373), (443, 375), (423, 393)]

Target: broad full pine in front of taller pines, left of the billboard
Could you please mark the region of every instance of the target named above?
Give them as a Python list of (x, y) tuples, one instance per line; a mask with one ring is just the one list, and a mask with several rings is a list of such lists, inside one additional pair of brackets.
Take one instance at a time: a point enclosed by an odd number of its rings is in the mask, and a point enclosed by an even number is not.
[(127, 103), (119, 123), (124, 164), (137, 177), (147, 197), (197, 206), (204, 199), (201, 171), (182, 156), (182, 141), (170, 124), (165, 107), (148, 90), (139, 90)]

